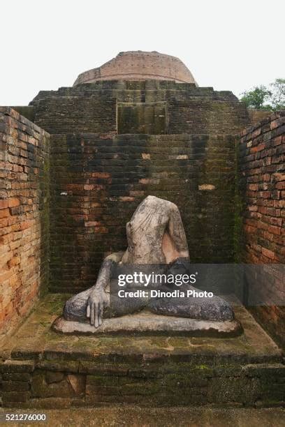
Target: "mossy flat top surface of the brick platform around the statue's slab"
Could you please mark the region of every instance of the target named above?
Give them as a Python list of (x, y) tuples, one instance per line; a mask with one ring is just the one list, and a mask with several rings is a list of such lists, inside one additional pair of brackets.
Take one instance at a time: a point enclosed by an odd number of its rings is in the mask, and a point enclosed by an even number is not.
[(13, 364), (20, 365), (25, 360), (41, 364), (61, 361), (64, 364), (78, 364), (78, 361), (106, 364), (116, 361), (157, 365), (187, 362), (207, 366), (282, 363), (281, 350), (241, 306), (233, 306), (233, 309), (243, 334), (233, 338), (195, 337), (187, 333), (171, 336), (170, 333), (157, 334), (155, 331), (147, 336), (131, 331), (117, 336), (57, 334), (51, 326), (61, 315), (68, 297), (69, 294), (48, 294), (14, 336), (2, 343), (2, 361), (9, 364), (13, 360)]

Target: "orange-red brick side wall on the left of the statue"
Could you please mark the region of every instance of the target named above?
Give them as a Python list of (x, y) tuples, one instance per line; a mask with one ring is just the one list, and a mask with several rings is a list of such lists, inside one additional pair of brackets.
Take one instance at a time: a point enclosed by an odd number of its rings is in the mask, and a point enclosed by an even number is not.
[(5, 334), (47, 287), (49, 135), (0, 107), (0, 143), (0, 334)]

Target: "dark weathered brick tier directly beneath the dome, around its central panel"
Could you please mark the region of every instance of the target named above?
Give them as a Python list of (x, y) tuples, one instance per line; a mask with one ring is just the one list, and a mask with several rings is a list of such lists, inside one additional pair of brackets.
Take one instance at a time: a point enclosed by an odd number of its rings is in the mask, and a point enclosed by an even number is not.
[[(32, 103), (35, 123), (49, 133), (116, 133), (117, 104), (162, 102), (168, 134), (235, 134), (250, 123), (247, 108), (233, 93), (174, 82), (80, 84), (41, 91)], [(142, 130), (137, 133), (147, 133)]]

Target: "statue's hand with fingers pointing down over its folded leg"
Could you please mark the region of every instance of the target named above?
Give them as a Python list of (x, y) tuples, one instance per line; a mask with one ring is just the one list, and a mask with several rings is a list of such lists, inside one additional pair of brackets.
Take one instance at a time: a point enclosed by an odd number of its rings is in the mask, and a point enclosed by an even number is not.
[(90, 318), (90, 323), (98, 328), (103, 322), (103, 309), (108, 307), (110, 300), (108, 294), (103, 289), (92, 290), (87, 302), (87, 317)]

